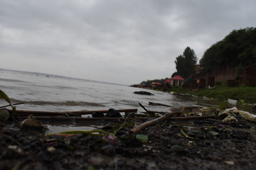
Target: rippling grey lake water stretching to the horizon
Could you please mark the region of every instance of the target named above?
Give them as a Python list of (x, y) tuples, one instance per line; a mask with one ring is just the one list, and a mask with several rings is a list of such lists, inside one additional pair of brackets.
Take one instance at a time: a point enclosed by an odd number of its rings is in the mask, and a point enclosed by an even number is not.
[[(0, 89), (11, 98), (12, 103), (23, 103), (16, 106), (17, 110), (28, 111), (138, 108), (138, 112), (142, 112), (144, 110), (139, 106), (142, 103), (149, 111), (170, 112), (183, 106), (197, 105), (190, 98), (184, 99), (161, 91), (5, 69), (0, 69)], [(134, 94), (134, 91), (148, 91), (154, 96)], [(149, 106), (149, 101), (173, 107)], [(7, 104), (0, 100), (0, 106)], [(51, 130), (55, 128), (52, 126)]]

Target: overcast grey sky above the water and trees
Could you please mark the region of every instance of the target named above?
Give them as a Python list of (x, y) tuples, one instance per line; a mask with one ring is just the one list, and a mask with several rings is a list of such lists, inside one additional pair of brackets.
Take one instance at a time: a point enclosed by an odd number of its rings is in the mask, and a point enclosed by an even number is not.
[(232, 30), (255, 0), (0, 0), (0, 68), (138, 84), (171, 77)]

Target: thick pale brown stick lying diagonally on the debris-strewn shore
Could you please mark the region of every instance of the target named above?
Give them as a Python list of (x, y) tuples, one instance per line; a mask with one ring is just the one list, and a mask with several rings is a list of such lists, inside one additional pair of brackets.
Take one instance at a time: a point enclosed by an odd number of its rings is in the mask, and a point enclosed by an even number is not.
[(166, 113), (165, 115), (162, 115), (159, 118), (153, 119), (153, 120), (149, 120), (145, 123), (142, 123), (141, 125), (138, 125), (137, 127), (133, 128), (132, 130), (130, 130), (130, 132), (132, 133), (137, 133), (141, 130), (144, 130), (145, 128), (151, 126), (151, 125), (156, 125), (157, 123), (161, 123), (162, 121), (170, 118), (172, 115), (179, 115), (181, 114), (181, 112), (175, 112), (175, 113)]

